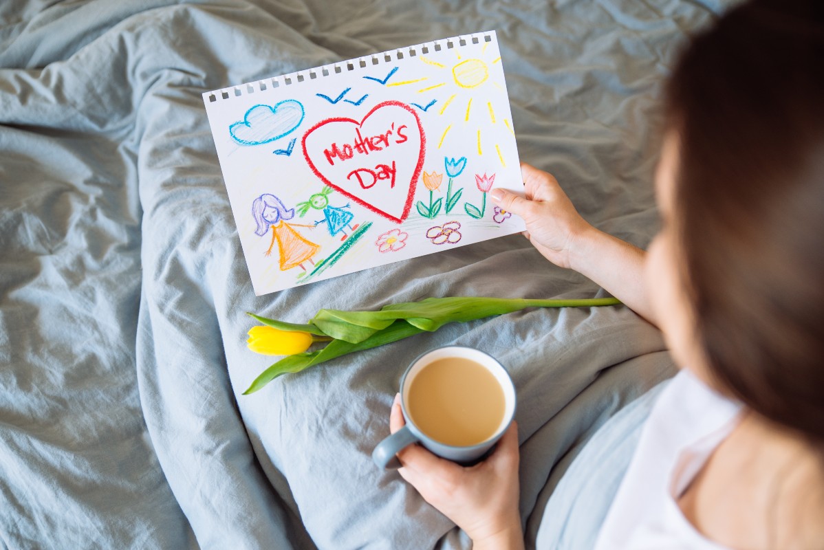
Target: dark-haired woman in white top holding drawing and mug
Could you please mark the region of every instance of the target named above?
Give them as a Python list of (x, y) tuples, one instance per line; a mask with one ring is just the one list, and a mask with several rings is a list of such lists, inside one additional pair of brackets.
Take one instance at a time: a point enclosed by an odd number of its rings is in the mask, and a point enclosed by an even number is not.
[[(822, 2), (749, 2), (694, 40), (667, 84), (648, 252), (589, 226), (531, 166), (526, 198), (490, 193), (547, 259), (656, 324), (682, 368), (596, 548), (824, 548), (822, 60)], [(473, 468), (398, 456), (474, 548), (523, 547), (516, 428)]]

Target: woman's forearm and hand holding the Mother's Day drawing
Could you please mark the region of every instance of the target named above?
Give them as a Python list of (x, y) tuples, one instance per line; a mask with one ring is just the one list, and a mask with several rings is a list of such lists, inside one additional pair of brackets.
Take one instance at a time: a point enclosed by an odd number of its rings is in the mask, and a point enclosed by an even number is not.
[(493, 189), (489, 195), (494, 203), (522, 217), (527, 223), (524, 235), (546, 259), (589, 277), (655, 324), (644, 287), (647, 253), (591, 226), (552, 175), (527, 164), (521, 172), (526, 198)]

